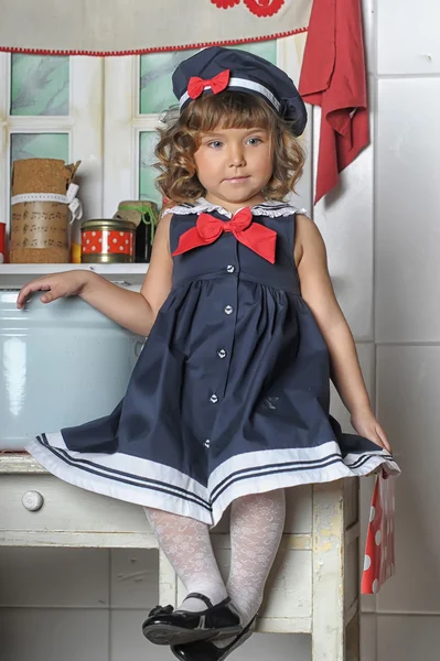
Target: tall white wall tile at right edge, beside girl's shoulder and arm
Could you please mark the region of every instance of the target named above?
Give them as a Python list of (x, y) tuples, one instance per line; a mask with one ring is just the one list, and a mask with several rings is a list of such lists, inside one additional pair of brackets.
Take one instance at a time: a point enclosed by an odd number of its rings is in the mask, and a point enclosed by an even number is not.
[[(415, 12), (416, 13), (416, 12)], [(376, 340), (440, 339), (440, 80), (379, 80)]]

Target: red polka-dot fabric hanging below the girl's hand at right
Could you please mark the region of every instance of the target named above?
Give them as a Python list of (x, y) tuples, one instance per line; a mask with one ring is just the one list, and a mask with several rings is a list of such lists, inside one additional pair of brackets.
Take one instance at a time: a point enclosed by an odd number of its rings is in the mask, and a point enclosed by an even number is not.
[(361, 592), (379, 592), (395, 572), (395, 479), (379, 475), (373, 491)]

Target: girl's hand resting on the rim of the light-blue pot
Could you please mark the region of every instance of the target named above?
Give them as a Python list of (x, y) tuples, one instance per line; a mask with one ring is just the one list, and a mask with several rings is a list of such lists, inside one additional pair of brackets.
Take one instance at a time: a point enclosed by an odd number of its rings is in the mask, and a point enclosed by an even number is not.
[(33, 292), (46, 292), (40, 296), (42, 303), (51, 303), (56, 299), (64, 296), (79, 295), (89, 281), (89, 271), (66, 271), (65, 273), (54, 273), (53, 275), (44, 275), (28, 282), (20, 291), (17, 299), (17, 307), (22, 310), (30, 294)]

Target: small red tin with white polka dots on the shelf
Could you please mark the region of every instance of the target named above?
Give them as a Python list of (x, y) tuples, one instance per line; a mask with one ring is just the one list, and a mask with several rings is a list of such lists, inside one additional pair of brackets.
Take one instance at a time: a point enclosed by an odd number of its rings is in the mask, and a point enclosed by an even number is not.
[(83, 263), (135, 261), (136, 225), (120, 218), (85, 220), (81, 227)]

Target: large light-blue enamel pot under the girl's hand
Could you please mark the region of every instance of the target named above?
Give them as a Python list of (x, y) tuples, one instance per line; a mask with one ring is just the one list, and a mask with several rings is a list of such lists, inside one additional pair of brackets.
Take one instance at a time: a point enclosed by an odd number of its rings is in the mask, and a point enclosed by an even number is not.
[(19, 290), (0, 290), (0, 451), (108, 415), (142, 346), (79, 296), (45, 305), (37, 293), (17, 310)]

